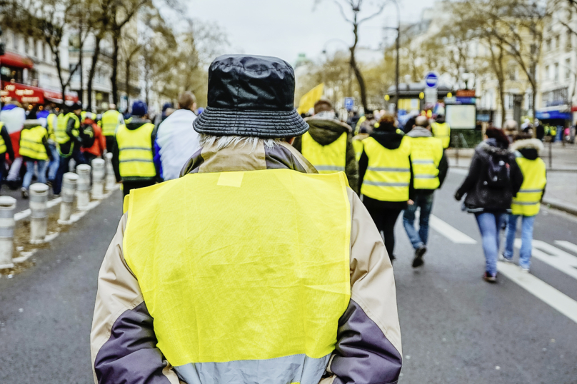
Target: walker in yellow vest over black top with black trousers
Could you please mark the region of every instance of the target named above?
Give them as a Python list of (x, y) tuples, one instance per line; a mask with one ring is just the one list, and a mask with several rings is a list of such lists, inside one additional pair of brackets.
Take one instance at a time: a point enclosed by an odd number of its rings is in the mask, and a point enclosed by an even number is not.
[(363, 139), (358, 162), (363, 203), (383, 234), (391, 262), (395, 260), (395, 224), (407, 207), (411, 184), (411, 148), (403, 136), (396, 127), (395, 116), (383, 113), (378, 127)]

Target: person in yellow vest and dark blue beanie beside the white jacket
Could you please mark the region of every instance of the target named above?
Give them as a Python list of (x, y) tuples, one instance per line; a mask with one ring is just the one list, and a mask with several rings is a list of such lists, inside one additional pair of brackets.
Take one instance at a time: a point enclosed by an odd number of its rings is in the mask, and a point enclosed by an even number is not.
[(113, 136), (112, 166), (116, 181), (122, 183), (124, 196), (132, 189), (154, 185), (159, 174), (154, 165), (156, 129), (147, 113), (144, 101), (134, 101), (131, 118)]

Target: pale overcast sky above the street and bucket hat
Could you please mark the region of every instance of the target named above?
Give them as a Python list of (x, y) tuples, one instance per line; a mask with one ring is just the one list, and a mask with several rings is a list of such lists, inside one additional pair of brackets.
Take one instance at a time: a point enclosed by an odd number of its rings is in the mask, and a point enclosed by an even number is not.
[[(341, 0), (342, 1), (342, 0)], [(399, 0), (402, 21), (418, 21), (425, 6), (432, 1)], [(365, 0), (370, 14), (375, 9)], [(293, 64), (299, 53), (311, 59), (328, 52), (344, 49), (342, 39), (351, 44), (352, 29), (343, 21), (333, 0), (323, 0), (313, 9), (314, 0), (191, 0), (191, 16), (199, 21), (218, 23), (229, 37), (229, 53), (278, 56)], [(362, 46), (378, 47), (383, 40), (382, 26), (396, 26), (396, 9), (389, 4), (381, 16), (361, 26)], [(389, 31), (388, 36), (394, 36)], [(327, 44), (328, 43), (328, 44)]]

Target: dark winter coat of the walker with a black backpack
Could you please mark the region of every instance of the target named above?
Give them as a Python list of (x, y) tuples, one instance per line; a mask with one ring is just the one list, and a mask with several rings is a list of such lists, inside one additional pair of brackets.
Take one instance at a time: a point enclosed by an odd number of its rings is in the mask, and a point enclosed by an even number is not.
[[(510, 167), (511, 183), (505, 188), (491, 188), (485, 185), (491, 156), (503, 156)], [(499, 146), (494, 138), (480, 143), (471, 159), (471, 167), (465, 181), (458, 188), (455, 198), (461, 200), (466, 194), (465, 206), (468, 212), (506, 212), (511, 210), (511, 201), (523, 184), (523, 173), (517, 166), (515, 154)]]

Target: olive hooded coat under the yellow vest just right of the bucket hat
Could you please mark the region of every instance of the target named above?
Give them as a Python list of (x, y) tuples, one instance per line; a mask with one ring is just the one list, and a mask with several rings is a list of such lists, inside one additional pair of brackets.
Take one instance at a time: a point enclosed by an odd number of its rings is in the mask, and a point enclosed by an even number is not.
[[(337, 138), (341, 137), (343, 133), (346, 133), (345, 173), (346, 178), (348, 178), (348, 186), (358, 194), (360, 184), (358, 183), (358, 165), (355, 158), (355, 149), (353, 148), (353, 128), (346, 123), (328, 118), (311, 117), (306, 118), (305, 121), (310, 127), (308, 133), (310, 133), (313, 140), (321, 144), (321, 146), (328, 146), (328, 144), (333, 143)], [(302, 136), (295, 138), (293, 147), (302, 153)]]

